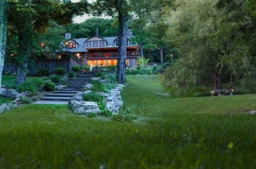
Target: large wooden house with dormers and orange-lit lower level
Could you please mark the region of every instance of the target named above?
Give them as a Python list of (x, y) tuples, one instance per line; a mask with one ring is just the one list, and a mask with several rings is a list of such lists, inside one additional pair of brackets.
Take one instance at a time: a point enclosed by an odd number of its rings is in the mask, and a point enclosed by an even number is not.
[[(108, 66), (117, 64), (117, 50), (119, 45), (118, 37), (100, 37), (90, 38), (71, 38), (70, 33), (66, 32), (66, 43), (63, 45), (63, 51), (71, 52), (77, 56), (82, 63), (89, 65)], [(139, 56), (139, 46), (131, 43), (132, 35), (127, 36), (127, 55), (126, 65), (137, 65)]]

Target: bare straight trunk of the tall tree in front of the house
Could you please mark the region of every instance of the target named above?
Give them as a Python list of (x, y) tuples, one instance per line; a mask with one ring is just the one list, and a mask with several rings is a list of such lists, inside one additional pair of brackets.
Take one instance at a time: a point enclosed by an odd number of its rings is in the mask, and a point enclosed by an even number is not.
[(118, 46), (118, 62), (117, 62), (117, 82), (125, 83), (126, 69), (126, 39), (128, 34), (128, 13), (119, 12), (119, 46)]

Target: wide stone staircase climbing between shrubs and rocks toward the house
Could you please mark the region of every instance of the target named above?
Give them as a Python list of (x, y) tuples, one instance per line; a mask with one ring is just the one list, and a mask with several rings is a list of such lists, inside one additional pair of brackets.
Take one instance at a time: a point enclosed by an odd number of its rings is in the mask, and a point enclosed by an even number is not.
[(68, 104), (71, 97), (81, 91), (83, 86), (92, 79), (98, 72), (93, 68), (91, 72), (79, 72), (77, 78), (68, 78), (68, 85), (56, 90), (53, 94), (45, 94), (44, 97), (35, 104)]

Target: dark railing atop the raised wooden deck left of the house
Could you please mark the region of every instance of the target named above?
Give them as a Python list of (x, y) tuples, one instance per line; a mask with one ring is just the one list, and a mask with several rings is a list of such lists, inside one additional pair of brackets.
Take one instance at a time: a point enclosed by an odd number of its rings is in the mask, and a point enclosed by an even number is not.
[(29, 57), (35, 61), (73, 60), (77, 64), (82, 64), (82, 61), (71, 52), (36, 52), (29, 53)]

